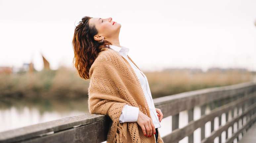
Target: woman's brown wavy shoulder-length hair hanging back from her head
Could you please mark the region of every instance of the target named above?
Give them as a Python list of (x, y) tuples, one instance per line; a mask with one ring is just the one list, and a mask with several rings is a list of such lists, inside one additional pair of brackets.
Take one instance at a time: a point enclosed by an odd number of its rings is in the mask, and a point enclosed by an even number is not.
[(94, 40), (94, 36), (98, 34), (95, 25), (89, 24), (89, 20), (93, 17), (84, 16), (78, 25), (75, 26), (72, 46), (74, 50), (73, 66), (78, 71), (81, 78), (87, 80), (89, 70), (94, 60), (100, 52), (110, 48), (111, 42), (103, 40), (102, 43)]

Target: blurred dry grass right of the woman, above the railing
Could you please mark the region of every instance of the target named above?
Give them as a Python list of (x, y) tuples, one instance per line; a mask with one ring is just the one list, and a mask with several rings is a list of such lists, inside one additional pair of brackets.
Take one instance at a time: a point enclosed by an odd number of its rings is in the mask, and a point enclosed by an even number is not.
[(250, 72), (236, 70), (199, 72), (178, 70), (145, 73), (154, 98), (185, 91), (243, 83), (252, 80)]

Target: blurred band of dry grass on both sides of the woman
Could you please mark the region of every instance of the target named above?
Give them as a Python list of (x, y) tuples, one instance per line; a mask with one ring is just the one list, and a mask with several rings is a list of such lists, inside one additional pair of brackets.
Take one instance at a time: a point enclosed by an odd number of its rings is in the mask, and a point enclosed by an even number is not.
[[(153, 98), (207, 87), (224, 86), (252, 80), (250, 72), (199, 72), (186, 70), (145, 72)], [(56, 71), (33, 74), (0, 75), (0, 97), (88, 98), (89, 80), (76, 71), (61, 67)]]

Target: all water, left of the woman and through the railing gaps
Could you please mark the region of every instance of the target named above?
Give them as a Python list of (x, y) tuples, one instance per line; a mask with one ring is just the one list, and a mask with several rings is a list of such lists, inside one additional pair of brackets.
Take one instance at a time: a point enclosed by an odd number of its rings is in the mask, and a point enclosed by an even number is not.
[[(87, 99), (79, 100), (33, 100), (33, 102), (27, 102), (24, 100), (8, 100), (1, 103), (0, 106), (0, 132), (21, 128), (28, 125), (38, 124), (42, 122), (61, 119), (64, 117), (80, 115), (83, 113), (89, 113)], [(207, 106), (205, 113), (210, 113), (210, 108)], [(242, 113), (242, 109), (239, 108), (239, 113)], [(194, 120), (200, 118), (200, 107), (194, 108)], [(234, 116), (237, 116), (237, 108), (235, 108)], [(231, 112), (229, 112), (229, 120), (231, 120)], [(246, 121), (246, 120), (245, 120)], [(219, 127), (218, 117), (214, 119), (214, 130)], [(159, 132), (161, 136), (165, 136), (172, 132), (172, 116), (163, 118), (161, 121), (161, 128)], [(180, 112), (179, 128), (182, 128), (188, 124), (188, 111)], [(222, 114), (222, 125), (226, 123), (226, 115)], [(235, 131), (237, 131), (237, 124), (234, 125)], [(239, 122), (241, 127), (241, 122)], [(205, 137), (208, 137), (211, 133), (211, 123), (205, 124)], [(228, 131), (229, 137), (231, 137), (232, 129)], [(222, 142), (226, 140), (226, 133), (223, 132)], [(239, 137), (240, 138), (240, 137)], [(199, 143), (201, 139), (201, 129), (198, 128), (194, 131), (194, 142)], [(214, 143), (218, 143), (218, 137), (215, 138)], [(235, 140), (236, 142), (236, 140)], [(106, 141), (104, 142), (106, 143)], [(188, 143), (188, 137), (183, 138), (179, 143)]]

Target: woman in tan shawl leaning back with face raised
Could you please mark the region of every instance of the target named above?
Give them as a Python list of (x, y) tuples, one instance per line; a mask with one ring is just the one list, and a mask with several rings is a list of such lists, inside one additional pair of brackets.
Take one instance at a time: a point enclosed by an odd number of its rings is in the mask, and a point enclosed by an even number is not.
[(79, 76), (90, 79), (89, 112), (110, 117), (107, 143), (163, 143), (157, 130), (163, 114), (154, 107), (146, 75), (119, 43), (120, 28), (111, 17), (89, 16), (75, 27), (73, 62)]

